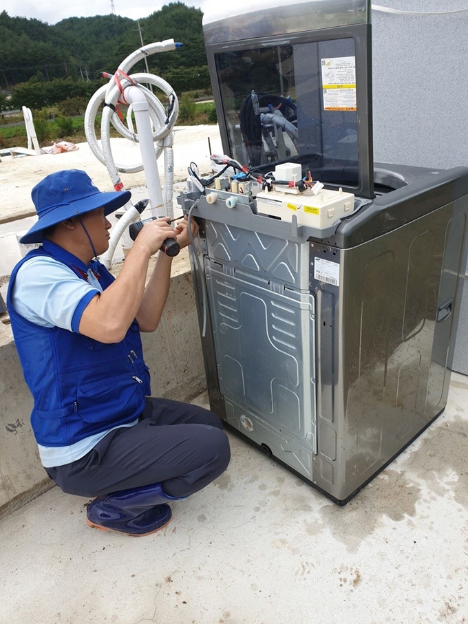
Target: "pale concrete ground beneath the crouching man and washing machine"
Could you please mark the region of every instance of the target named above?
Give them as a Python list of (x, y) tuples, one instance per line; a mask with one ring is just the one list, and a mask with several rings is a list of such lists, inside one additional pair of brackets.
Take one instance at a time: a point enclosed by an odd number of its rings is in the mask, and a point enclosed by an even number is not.
[[(202, 397), (203, 404), (206, 398)], [(226, 473), (134, 539), (53, 488), (0, 521), (2, 624), (468, 622), (468, 378), (339, 508), (236, 435)]]

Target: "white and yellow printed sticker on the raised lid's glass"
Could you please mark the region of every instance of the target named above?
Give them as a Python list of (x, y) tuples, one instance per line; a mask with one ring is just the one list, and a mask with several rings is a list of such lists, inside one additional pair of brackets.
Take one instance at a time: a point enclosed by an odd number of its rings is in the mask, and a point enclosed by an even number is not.
[(322, 58), (323, 109), (326, 111), (355, 111), (356, 57)]

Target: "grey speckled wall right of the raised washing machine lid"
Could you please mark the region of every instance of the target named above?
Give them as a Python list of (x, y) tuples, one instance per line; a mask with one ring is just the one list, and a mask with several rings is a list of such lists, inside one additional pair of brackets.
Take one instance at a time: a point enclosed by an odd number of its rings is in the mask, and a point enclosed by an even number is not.
[[(454, 11), (466, 0), (379, 0), (403, 11)], [(372, 10), (374, 158), (449, 169), (468, 165), (468, 12)]]

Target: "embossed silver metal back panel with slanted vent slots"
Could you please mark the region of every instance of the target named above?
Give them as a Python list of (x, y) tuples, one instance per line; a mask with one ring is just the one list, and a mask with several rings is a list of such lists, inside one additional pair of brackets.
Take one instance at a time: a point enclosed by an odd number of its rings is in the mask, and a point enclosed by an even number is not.
[(315, 452), (314, 297), (209, 259), (206, 283), (220, 391), (239, 408), (231, 407), (235, 426), (259, 444)]

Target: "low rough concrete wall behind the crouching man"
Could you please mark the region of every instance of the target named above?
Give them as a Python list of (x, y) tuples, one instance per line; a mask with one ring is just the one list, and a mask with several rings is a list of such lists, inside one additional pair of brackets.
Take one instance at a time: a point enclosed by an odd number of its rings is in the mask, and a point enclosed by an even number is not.
[[(154, 396), (190, 400), (206, 388), (200, 331), (187, 252), (174, 262), (158, 330), (142, 334)], [(9, 325), (0, 323), (0, 518), (54, 486), (45, 473), (29, 417), (25, 385)]]

